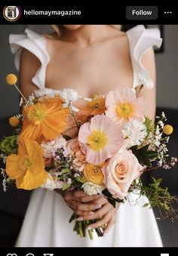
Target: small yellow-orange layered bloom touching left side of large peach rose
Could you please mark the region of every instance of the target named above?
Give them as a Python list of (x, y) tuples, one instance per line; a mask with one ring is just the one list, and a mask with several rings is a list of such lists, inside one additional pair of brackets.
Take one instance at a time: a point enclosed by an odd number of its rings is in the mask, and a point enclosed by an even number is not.
[(84, 179), (94, 184), (102, 185), (104, 176), (101, 168), (103, 165), (104, 163), (100, 165), (87, 163), (84, 167)]

